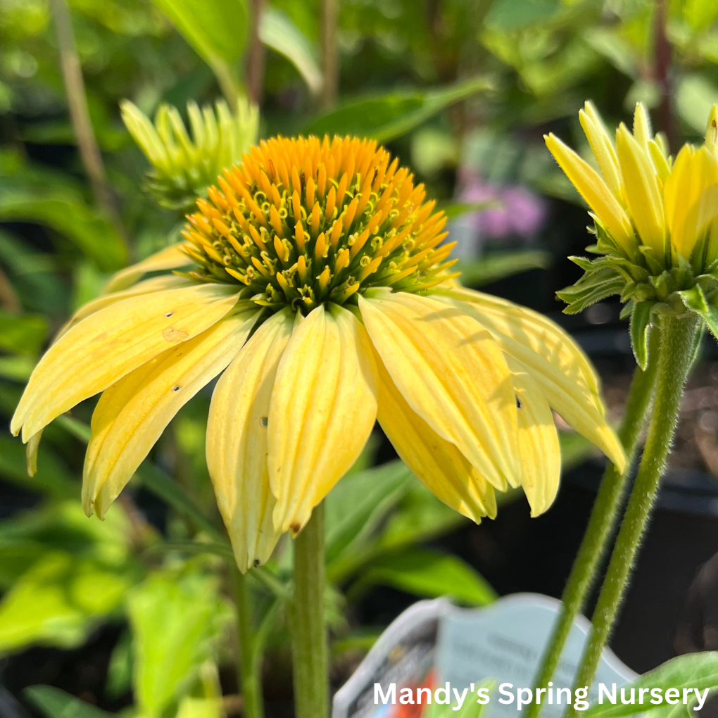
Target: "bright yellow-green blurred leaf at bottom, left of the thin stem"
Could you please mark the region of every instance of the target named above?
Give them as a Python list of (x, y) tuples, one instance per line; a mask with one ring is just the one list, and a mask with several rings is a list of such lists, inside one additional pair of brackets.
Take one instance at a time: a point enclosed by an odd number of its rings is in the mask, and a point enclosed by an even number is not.
[(134, 694), (146, 718), (159, 716), (191, 687), (228, 627), (216, 577), (158, 572), (128, 598), (134, 636)]

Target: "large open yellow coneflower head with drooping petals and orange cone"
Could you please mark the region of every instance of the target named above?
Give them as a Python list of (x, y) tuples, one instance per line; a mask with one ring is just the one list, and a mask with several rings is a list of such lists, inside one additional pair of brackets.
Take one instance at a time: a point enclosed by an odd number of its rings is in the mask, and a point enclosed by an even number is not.
[(32, 454), (44, 426), (102, 392), (88, 515), (220, 374), (207, 461), (242, 570), (304, 526), (376, 419), (477, 522), (508, 487), (534, 516), (551, 505), (551, 409), (623, 467), (581, 350), (540, 314), (452, 281), (444, 216), (375, 143), (270, 140), (198, 205), (185, 243), (123, 270), (68, 322), (13, 418)]

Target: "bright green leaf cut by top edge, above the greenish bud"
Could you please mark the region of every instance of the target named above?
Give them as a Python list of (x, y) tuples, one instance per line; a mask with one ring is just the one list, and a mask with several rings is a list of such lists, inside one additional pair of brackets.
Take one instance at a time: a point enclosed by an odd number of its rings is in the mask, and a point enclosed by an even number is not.
[[(152, 0), (217, 75), (225, 88), (247, 40), (244, 0)], [(226, 90), (225, 90), (226, 93)], [(228, 97), (228, 99), (231, 99)]]

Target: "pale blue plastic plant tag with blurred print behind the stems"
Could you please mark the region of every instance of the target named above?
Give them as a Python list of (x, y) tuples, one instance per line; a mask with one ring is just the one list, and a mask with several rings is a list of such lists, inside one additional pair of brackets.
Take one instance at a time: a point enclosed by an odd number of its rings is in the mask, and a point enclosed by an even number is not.
[[(533, 676), (560, 606), (538, 594), (480, 609), (420, 601), (386, 629), (337, 691), (332, 718), (444, 718), (460, 705), (460, 715), (468, 715), (468, 704), (477, 702), (484, 705), (481, 718), (520, 718), (535, 699)], [(541, 695), (545, 718), (560, 718), (567, 701), (576, 700), (573, 676), (589, 627), (583, 616), (574, 621), (551, 692)], [(637, 677), (605, 650), (588, 701), (597, 699), (601, 683), (610, 690)]]

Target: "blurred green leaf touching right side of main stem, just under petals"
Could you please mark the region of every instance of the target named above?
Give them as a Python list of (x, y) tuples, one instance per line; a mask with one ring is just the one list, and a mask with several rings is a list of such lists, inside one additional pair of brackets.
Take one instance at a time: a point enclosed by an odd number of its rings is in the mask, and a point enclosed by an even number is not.
[(396, 461), (338, 482), (325, 500), (327, 561), (376, 528), (411, 479), (409, 469)]

